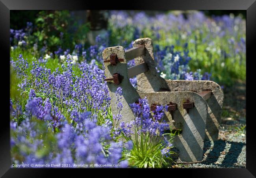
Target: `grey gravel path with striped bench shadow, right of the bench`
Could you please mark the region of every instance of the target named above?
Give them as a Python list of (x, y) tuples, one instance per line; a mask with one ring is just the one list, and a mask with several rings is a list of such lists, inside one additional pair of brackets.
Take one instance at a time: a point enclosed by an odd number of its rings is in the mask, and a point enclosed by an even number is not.
[(173, 168), (246, 168), (246, 84), (224, 89), (223, 118), (217, 141), (204, 143), (202, 162)]

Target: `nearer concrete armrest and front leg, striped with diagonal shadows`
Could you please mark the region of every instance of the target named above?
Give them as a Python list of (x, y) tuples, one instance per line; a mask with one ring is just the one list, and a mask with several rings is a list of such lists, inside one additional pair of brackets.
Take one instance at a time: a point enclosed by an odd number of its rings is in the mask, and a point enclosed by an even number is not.
[[(174, 146), (179, 149), (179, 159), (186, 162), (201, 161), (203, 158), (204, 137), (207, 119), (207, 103), (198, 95), (191, 91), (180, 92), (139, 92), (141, 98), (145, 96), (148, 103), (166, 105), (169, 102), (177, 103), (178, 109), (171, 114), (166, 113), (165, 117), (170, 121), (172, 129), (182, 129), (182, 134), (174, 138)], [(183, 103), (189, 98), (195, 103), (193, 109), (187, 113), (183, 108)]]

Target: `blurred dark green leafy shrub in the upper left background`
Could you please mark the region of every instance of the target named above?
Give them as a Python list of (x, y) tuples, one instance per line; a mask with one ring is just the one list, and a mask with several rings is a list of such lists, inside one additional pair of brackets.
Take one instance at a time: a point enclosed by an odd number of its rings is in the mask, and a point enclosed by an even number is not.
[(39, 11), (35, 19), (33, 34), (28, 37), (28, 45), (37, 43), (41, 49), (46, 46), (50, 51), (61, 48), (73, 49), (76, 43), (85, 43), (89, 24), (78, 24), (67, 10)]

